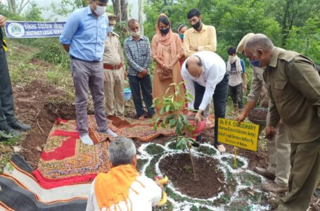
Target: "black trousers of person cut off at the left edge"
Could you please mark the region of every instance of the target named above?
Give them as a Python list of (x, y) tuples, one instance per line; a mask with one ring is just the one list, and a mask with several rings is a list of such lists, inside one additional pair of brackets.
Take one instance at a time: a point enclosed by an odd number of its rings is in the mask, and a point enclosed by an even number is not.
[(0, 127), (15, 121), (13, 93), (6, 52), (0, 47)]

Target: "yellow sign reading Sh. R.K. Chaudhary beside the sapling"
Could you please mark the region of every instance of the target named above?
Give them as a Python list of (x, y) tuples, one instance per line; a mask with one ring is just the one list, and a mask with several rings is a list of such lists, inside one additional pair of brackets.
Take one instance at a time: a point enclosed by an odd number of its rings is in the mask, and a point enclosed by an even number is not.
[(259, 125), (219, 118), (218, 140), (221, 143), (257, 151)]

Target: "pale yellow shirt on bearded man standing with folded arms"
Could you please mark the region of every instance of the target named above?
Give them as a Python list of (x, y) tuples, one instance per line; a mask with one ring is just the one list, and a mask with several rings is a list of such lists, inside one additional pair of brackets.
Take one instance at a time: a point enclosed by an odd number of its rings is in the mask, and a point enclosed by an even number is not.
[(184, 55), (193, 55), (197, 51), (191, 51), (190, 47), (198, 47), (198, 51), (217, 51), (217, 34), (215, 27), (204, 25), (200, 32), (190, 28), (184, 32)]

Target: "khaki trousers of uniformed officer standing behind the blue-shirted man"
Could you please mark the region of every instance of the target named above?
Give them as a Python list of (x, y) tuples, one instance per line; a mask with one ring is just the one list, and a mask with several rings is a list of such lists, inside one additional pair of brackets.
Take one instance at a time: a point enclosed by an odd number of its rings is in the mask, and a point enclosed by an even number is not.
[[(104, 70), (105, 109), (107, 115), (124, 115), (124, 70)], [(113, 113), (115, 108), (115, 113)]]

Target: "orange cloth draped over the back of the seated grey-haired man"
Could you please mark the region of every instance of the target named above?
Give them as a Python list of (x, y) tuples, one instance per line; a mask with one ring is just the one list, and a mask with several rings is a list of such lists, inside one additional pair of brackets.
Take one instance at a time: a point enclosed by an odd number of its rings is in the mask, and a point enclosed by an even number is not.
[(132, 165), (113, 167), (107, 173), (99, 173), (94, 181), (94, 192), (99, 208), (127, 200), (129, 187), (136, 181), (136, 168)]

